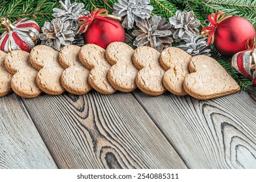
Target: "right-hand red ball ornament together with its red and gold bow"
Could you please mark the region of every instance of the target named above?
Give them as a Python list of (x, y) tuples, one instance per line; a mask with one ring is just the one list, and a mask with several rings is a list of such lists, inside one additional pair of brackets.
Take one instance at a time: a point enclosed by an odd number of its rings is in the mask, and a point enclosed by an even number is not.
[(217, 51), (227, 57), (247, 49), (248, 39), (256, 36), (253, 25), (239, 16), (225, 16), (221, 12), (208, 16), (210, 27), (202, 29), (202, 36), (208, 36), (208, 44), (214, 44)]

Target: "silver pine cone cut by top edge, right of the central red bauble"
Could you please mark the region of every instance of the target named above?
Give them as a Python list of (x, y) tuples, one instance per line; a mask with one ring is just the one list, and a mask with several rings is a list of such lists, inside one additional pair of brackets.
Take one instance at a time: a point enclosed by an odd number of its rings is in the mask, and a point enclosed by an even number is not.
[(123, 27), (132, 29), (135, 22), (142, 21), (142, 19), (150, 18), (153, 6), (149, 5), (150, 0), (118, 0), (114, 3), (114, 16), (125, 17), (123, 19)]

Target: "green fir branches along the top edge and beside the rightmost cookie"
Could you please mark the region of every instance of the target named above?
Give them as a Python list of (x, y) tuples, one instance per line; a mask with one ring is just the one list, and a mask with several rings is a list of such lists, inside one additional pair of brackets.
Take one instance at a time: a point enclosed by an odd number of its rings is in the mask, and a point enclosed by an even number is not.
[[(65, 0), (63, 0), (65, 1)], [(72, 1), (72, 0), (71, 0)], [(118, 0), (74, 0), (84, 3), (85, 8), (89, 11), (95, 8), (106, 8), (110, 14), (113, 11), (112, 6)], [(205, 27), (204, 20), (208, 14), (216, 13), (217, 11), (233, 16), (242, 16), (251, 21), (256, 27), (256, 0), (151, 0), (153, 6), (153, 14), (165, 17), (166, 19), (174, 16), (176, 10), (192, 10), (195, 18), (201, 22), (201, 27)], [(39, 23), (40, 27), (45, 21), (52, 20), (52, 8), (59, 8), (58, 1), (52, 0), (10, 0), (0, 1), (0, 18), (8, 18), (11, 22), (19, 18), (31, 18)], [(0, 32), (3, 32), (4, 27), (0, 27)], [(133, 30), (131, 30), (133, 31)], [(131, 34), (131, 31), (128, 31)], [(214, 49), (214, 47), (213, 47)], [(221, 56), (218, 53), (212, 55), (214, 59), (229, 72), (229, 74), (237, 81), (242, 90), (248, 91), (248, 86), (253, 83), (244, 75), (238, 73), (231, 67), (230, 59)]]

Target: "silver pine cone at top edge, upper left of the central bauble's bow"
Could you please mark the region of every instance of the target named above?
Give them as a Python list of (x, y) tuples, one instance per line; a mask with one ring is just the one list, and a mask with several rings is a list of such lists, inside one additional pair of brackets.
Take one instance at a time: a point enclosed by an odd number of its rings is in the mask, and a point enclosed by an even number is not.
[(88, 10), (84, 9), (84, 3), (72, 3), (70, 0), (65, 0), (65, 3), (59, 1), (61, 4), (61, 9), (54, 8), (54, 18), (61, 18), (63, 22), (69, 21), (72, 25), (72, 30), (74, 32), (78, 31), (77, 19), (82, 16), (89, 16)]

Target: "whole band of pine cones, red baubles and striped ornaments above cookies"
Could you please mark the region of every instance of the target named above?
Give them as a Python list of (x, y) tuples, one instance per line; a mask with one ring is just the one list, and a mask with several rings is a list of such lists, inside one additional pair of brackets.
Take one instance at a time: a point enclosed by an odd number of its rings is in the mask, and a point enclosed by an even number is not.
[[(30, 52), (38, 44), (56, 51), (67, 45), (82, 47), (85, 44), (106, 49), (112, 42), (125, 42), (125, 31), (129, 31), (133, 35), (130, 45), (134, 49), (146, 45), (162, 53), (168, 47), (178, 47), (192, 57), (216, 55), (217, 50), (227, 57), (229, 65), (232, 63), (237, 72), (255, 84), (256, 58), (254, 51), (250, 50), (256, 48), (256, 31), (248, 19), (216, 12), (208, 16), (205, 27), (193, 10), (176, 10), (176, 14), (163, 18), (155, 14), (150, 0), (115, 2), (110, 7), (103, 1), (112, 9), (110, 14), (106, 9), (97, 8), (89, 12), (84, 3), (59, 1), (60, 8), (52, 10), (54, 19), (45, 21), (41, 28), (36, 21), (27, 18), (14, 23), (1, 18), (6, 31), (1, 34), (0, 48), (6, 53), (19, 49)], [(248, 57), (240, 56), (248, 54)], [(227, 66), (225, 62), (222, 65)]]

